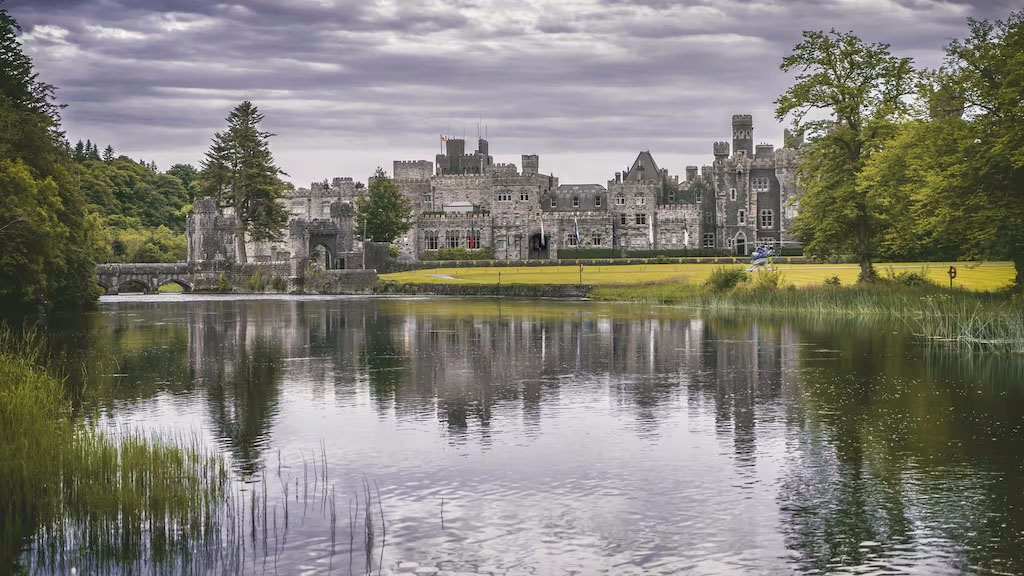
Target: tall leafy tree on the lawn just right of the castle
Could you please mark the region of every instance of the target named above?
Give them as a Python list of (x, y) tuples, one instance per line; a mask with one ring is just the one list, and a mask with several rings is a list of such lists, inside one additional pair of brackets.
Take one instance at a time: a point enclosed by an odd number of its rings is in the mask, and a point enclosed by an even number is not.
[[(868, 156), (908, 112), (915, 73), (910, 58), (890, 53), (888, 44), (868, 44), (853, 33), (805, 32), (783, 72), (796, 83), (775, 100), (775, 116), (793, 118), (803, 149), (798, 178), (804, 189), (796, 234), (809, 253), (853, 252), (860, 280), (874, 278), (880, 210), (857, 177)], [(824, 119), (815, 119), (824, 115)]]

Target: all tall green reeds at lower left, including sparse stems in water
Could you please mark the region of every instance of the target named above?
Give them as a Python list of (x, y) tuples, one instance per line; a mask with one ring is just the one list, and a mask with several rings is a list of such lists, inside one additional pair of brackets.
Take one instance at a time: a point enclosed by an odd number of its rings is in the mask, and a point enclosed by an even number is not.
[[(329, 522), (333, 567), (337, 498), (326, 446), (303, 455), (301, 482), (280, 453), (276, 478), (264, 466), (259, 482), (246, 481), (195, 436), (108, 433), (73, 417), (46, 365), (39, 337), (0, 326), (0, 573), (255, 572), (248, 563), (257, 558), (276, 567), (292, 517), (310, 511)], [(349, 563), (358, 545), (369, 573), (386, 542), (380, 492), (364, 479), (353, 504), (364, 522), (350, 525)]]

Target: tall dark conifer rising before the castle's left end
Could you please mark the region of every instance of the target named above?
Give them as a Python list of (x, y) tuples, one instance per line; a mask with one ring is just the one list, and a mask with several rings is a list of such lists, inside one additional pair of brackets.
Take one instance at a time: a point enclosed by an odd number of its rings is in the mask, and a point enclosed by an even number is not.
[(268, 140), (260, 130), (263, 115), (245, 100), (227, 116), (227, 131), (217, 132), (202, 162), (200, 194), (218, 199), (234, 210), (236, 250), (246, 261), (246, 235), (252, 240), (279, 240), (288, 223), (285, 174), (273, 163)]

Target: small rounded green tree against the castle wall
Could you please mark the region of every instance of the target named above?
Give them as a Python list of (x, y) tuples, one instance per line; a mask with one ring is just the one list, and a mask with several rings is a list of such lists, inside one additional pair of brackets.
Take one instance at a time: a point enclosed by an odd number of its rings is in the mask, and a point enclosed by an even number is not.
[(355, 235), (374, 242), (394, 242), (413, 228), (413, 207), (394, 180), (377, 168), (366, 196), (355, 202)]

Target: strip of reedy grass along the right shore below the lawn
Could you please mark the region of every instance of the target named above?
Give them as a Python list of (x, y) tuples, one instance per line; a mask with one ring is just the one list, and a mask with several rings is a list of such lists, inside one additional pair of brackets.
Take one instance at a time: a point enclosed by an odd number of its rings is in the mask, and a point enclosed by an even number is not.
[(848, 317), (895, 321), (922, 338), (971, 347), (1024, 353), (1020, 296), (942, 288), (913, 272), (893, 272), (861, 286), (798, 287), (784, 272), (746, 275), (717, 269), (705, 282), (598, 286), (591, 298), (677, 304), (709, 313)]

